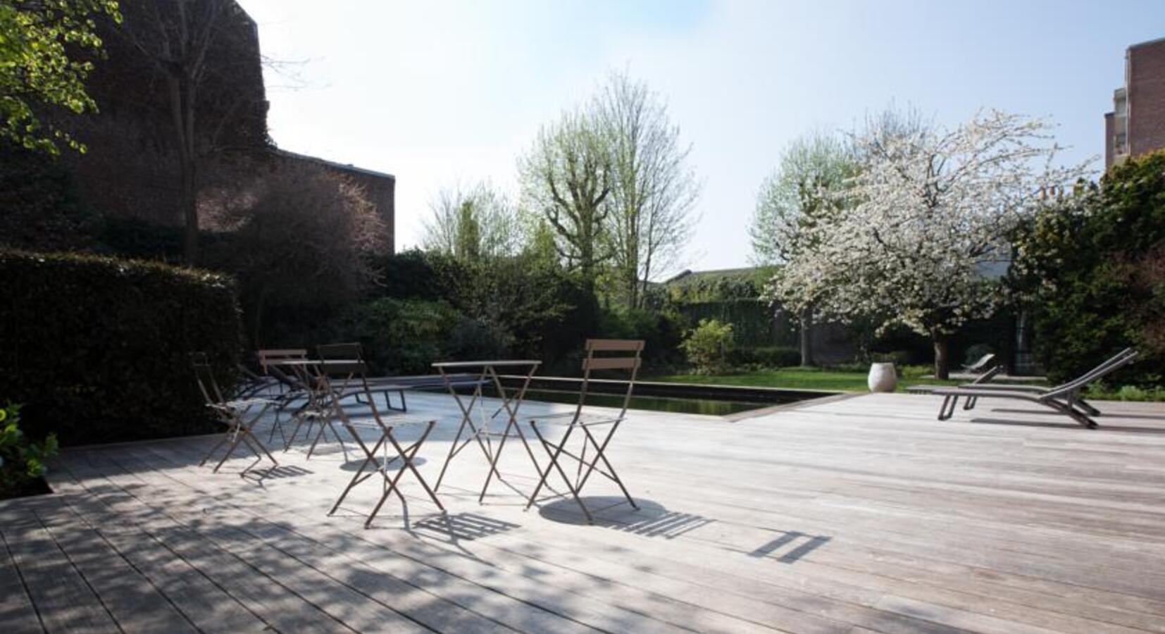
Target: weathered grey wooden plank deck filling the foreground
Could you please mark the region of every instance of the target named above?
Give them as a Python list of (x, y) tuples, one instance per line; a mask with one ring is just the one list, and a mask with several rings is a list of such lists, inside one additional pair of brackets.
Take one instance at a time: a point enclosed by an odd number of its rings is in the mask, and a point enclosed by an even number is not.
[[(446, 421), (421, 453), (435, 478), (452, 402), (410, 406)], [(636, 413), (612, 458), (643, 508), (596, 526), (506, 486), (479, 505), (473, 448), (447, 517), (405, 478), (408, 515), (389, 500), (372, 529), (377, 484), (325, 515), (353, 473), (334, 444), (262, 479), (197, 466), (210, 437), (69, 450), (56, 494), (0, 502), (0, 631), (1165, 632), (1165, 407), (1101, 403), (1097, 431), (937, 409)]]

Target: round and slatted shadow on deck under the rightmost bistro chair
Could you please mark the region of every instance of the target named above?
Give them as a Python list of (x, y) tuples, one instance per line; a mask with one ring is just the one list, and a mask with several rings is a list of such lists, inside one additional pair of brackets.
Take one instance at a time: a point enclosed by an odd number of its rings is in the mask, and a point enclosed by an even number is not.
[[(635, 499), (635, 503), (640, 505), (638, 510), (617, 495), (584, 495), (582, 501), (592, 509), (594, 526), (644, 537), (671, 540), (715, 521), (691, 513), (668, 510), (663, 505), (642, 498)], [(555, 522), (587, 526), (578, 502), (569, 496), (539, 506), (538, 514)]]

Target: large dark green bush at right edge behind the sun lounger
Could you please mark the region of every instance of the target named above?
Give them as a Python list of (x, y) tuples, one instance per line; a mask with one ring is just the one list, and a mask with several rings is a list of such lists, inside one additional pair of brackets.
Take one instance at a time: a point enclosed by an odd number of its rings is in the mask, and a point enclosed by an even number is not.
[[(1160, 381), (1153, 332), (1165, 287), (1145, 283), (1165, 246), (1165, 152), (1114, 165), (1021, 228), (1011, 286), (1036, 309), (1036, 352), (1053, 380), (1079, 375), (1130, 344), (1146, 358), (1118, 380)], [(1149, 272), (1151, 273), (1151, 270)]]

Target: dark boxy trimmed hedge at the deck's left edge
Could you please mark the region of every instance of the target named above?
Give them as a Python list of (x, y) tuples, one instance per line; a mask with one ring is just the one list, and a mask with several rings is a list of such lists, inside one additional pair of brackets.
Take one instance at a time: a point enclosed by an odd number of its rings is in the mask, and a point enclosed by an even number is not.
[(216, 430), (190, 371), (234, 380), (231, 277), (162, 263), (0, 251), (0, 400), (34, 437), (108, 443)]

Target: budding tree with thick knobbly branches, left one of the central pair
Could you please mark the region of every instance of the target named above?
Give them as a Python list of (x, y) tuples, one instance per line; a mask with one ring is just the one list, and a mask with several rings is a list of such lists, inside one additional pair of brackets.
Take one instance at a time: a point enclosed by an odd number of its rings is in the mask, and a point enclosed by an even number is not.
[(518, 160), (518, 171), (523, 198), (550, 223), (559, 254), (593, 293), (606, 259), (602, 233), (610, 210), (605, 203), (612, 190), (610, 153), (595, 118), (566, 112), (544, 126)]

